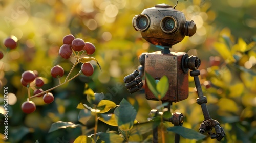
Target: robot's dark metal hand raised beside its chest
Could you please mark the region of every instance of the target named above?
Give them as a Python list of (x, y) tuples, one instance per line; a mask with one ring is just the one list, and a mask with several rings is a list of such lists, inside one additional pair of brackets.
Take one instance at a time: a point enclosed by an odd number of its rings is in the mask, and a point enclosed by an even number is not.
[(139, 91), (143, 86), (140, 78), (140, 72), (138, 70), (134, 70), (132, 74), (124, 77), (123, 82), (126, 83), (125, 86), (128, 89), (129, 93), (134, 93)]

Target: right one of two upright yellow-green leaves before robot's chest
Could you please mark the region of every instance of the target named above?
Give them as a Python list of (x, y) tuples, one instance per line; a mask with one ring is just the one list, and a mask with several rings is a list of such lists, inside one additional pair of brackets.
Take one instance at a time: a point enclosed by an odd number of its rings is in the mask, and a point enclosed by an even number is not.
[(160, 99), (162, 99), (165, 96), (165, 94), (168, 91), (168, 89), (169, 89), (169, 80), (164, 75), (164, 76), (161, 77), (160, 81), (157, 83), (157, 91), (158, 91), (158, 93), (161, 96)]

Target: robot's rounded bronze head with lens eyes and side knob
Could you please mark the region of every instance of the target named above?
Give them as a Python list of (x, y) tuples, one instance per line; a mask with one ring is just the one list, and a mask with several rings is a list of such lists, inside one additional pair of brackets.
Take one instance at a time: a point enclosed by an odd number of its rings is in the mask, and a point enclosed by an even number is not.
[(133, 27), (146, 41), (161, 46), (177, 44), (185, 36), (193, 36), (197, 30), (193, 20), (186, 21), (182, 12), (166, 4), (155, 5), (135, 15)]

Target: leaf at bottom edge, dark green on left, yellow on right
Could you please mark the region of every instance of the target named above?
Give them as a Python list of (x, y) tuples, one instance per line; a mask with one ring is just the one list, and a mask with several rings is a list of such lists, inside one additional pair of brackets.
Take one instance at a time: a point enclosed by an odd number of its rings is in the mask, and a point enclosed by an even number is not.
[(100, 139), (106, 143), (119, 143), (123, 142), (123, 138), (115, 133), (101, 133), (99, 135)]

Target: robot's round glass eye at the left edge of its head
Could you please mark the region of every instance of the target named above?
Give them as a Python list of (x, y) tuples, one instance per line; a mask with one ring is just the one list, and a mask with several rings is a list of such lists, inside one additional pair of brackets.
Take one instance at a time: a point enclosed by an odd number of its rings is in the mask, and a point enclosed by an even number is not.
[(146, 31), (150, 27), (150, 18), (146, 14), (139, 14), (134, 17), (133, 26), (140, 32)]

